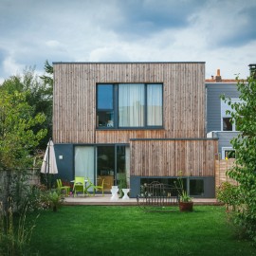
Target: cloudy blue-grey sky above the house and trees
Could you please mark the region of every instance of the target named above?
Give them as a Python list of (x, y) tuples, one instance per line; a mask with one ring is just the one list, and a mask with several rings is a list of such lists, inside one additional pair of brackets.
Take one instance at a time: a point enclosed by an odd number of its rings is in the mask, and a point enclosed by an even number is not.
[(0, 83), (53, 62), (256, 64), (255, 0), (0, 0)]

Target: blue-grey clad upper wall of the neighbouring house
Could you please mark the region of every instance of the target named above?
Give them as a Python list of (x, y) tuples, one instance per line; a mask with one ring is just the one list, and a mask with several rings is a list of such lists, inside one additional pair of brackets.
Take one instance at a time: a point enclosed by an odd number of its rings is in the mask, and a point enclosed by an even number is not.
[(236, 83), (206, 83), (207, 89), (207, 133), (221, 131), (221, 100), (220, 96), (239, 98)]

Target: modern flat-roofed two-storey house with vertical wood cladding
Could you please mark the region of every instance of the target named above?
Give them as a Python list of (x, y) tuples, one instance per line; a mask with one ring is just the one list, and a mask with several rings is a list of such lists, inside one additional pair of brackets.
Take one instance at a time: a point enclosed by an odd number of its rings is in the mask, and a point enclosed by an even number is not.
[(142, 184), (174, 184), (182, 172), (192, 196), (215, 196), (218, 139), (206, 136), (205, 63), (54, 63), (53, 69), (59, 177), (82, 175), (96, 184), (101, 176), (107, 191), (125, 178), (136, 197)]

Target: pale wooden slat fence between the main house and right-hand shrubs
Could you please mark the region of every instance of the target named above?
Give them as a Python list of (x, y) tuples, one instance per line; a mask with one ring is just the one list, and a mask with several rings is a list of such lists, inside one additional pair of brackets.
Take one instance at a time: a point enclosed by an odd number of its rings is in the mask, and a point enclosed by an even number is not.
[(233, 185), (237, 185), (237, 181), (226, 175), (227, 171), (234, 165), (235, 159), (215, 160), (215, 186), (218, 188), (223, 182), (228, 181)]

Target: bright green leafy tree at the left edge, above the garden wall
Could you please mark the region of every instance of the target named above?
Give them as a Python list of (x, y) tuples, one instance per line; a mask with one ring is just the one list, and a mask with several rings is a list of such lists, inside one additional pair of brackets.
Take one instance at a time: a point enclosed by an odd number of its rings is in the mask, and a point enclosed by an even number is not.
[(0, 90), (0, 167), (4, 169), (31, 167), (32, 153), (46, 136), (44, 128), (36, 133), (32, 130), (46, 117), (43, 113), (34, 115), (27, 94)]

